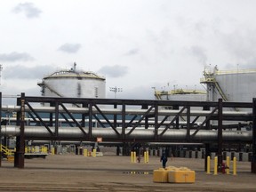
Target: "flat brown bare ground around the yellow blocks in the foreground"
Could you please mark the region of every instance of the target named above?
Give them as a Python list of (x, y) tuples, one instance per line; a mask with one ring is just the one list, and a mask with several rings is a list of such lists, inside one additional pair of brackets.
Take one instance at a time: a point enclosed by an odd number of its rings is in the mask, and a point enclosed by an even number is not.
[(196, 182), (153, 182), (153, 170), (161, 167), (157, 156), (149, 156), (149, 164), (143, 159), (132, 164), (130, 156), (49, 155), (26, 159), (24, 169), (3, 161), (0, 191), (256, 191), (256, 174), (250, 172), (249, 162), (237, 162), (236, 175), (206, 174), (203, 159), (169, 158), (167, 165), (196, 171)]

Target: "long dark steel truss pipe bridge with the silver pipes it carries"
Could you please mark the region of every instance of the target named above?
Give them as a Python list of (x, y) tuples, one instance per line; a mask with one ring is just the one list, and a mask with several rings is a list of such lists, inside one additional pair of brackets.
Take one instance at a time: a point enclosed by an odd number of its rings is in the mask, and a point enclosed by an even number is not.
[[(1, 125), (0, 129), (1, 137), (16, 136), (15, 167), (24, 167), (25, 140), (96, 141), (100, 137), (124, 143), (201, 142), (205, 145), (205, 156), (211, 153), (214, 144), (219, 164), (225, 143), (249, 143), (252, 172), (256, 173), (256, 99), (252, 102), (111, 100), (31, 97), (21, 93), (17, 106), (8, 108), (2, 105), (2, 93), (0, 97), (1, 114), (6, 110), (17, 113), (16, 125)], [(42, 103), (49, 107), (38, 107)], [(74, 108), (66, 107), (70, 104)], [(194, 107), (202, 109), (193, 110)], [(227, 108), (246, 108), (247, 112), (226, 111)], [(180, 116), (187, 117), (182, 127)], [(204, 121), (196, 124), (202, 116)], [(218, 125), (212, 126), (211, 121)], [(252, 130), (241, 130), (237, 124), (227, 126), (223, 121), (251, 124)]]

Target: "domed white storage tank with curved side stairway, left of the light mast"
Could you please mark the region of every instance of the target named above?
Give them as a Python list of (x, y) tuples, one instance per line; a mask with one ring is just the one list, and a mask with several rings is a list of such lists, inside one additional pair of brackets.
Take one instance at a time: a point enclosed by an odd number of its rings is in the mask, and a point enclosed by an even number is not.
[(42, 96), (68, 98), (106, 98), (106, 80), (92, 72), (84, 72), (74, 68), (59, 70), (44, 76)]

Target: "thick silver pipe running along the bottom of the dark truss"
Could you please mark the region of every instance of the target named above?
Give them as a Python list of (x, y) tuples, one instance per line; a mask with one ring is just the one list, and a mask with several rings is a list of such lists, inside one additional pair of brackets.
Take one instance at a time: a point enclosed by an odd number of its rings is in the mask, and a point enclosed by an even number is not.
[[(51, 131), (54, 132), (54, 127), (50, 127)], [(84, 128), (84, 132), (88, 132), (88, 128)], [(117, 132), (121, 134), (122, 128), (116, 128)], [(158, 134), (161, 134), (164, 129), (159, 128)], [(155, 129), (145, 129), (144, 127), (136, 128), (133, 132), (127, 135), (131, 131), (131, 128), (125, 129), (125, 139), (127, 140), (154, 140), (155, 139)], [(195, 130), (190, 131), (192, 135)], [(4, 136), (18, 136), (20, 135), (20, 126), (2, 125), (2, 134)], [(59, 128), (59, 140), (81, 139), (84, 138), (84, 133), (78, 127), (60, 127)], [(26, 126), (25, 127), (25, 137), (27, 138), (45, 138), (45, 140), (52, 140), (51, 133), (47, 131), (45, 127), (41, 126)], [(112, 128), (93, 128), (92, 137), (101, 137), (106, 140), (118, 140), (119, 136)], [(168, 129), (160, 137), (159, 140), (177, 141), (177, 140), (187, 140), (187, 130), (185, 129)], [(215, 130), (200, 130), (193, 137), (190, 137), (190, 141), (216, 141), (218, 140), (218, 131)], [(252, 131), (222, 131), (223, 141), (252, 141)]]

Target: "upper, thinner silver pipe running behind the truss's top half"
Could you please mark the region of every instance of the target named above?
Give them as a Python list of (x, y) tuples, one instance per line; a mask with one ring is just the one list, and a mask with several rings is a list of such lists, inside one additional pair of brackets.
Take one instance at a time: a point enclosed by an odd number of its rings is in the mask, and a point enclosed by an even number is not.
[[(55, 112), (55, 107), (33, 107), (36, 112)], [(78, 113), (78, 114), (86, 114), (89, 112), (88, 108), (67, 108), (70, 113)], [(120, 108), (100, 108), (101, 112), (105, 115), (121, 115), (122, 109)], [(20, 111), (20, 106), (3, 106), (2, 111), (6, 112), (18, 112)], [(27, 106), (25, 107), (25, 111), (31, 111)], [(144, 115), (148, 109), (125, 109), (126, 115)], [(63, 108), (59, 108), (60, 113), (65, 113), (66, 111)], [(159, 109), (158, 115), (159, 116), (176, 116), (180, 110), (173, 110), (173, 109)], [(96, 108), (92, 108), (93, 114), (99, 114), (99, 111)], [(191, 110), (190, 116), (208, 116), (212, 113), (211, 110)], [(148, 115), (154, 115), (155, 111), (152, 109)], [(186, 110), (184, 110), (180, 116), (186, 116)], [(214, 116), (218, 115), (218, 111), (214, 113)], [(223, 111), (222, 116), (252, 116), (252, 112), (248, 111)]]

